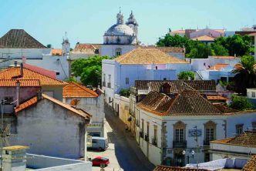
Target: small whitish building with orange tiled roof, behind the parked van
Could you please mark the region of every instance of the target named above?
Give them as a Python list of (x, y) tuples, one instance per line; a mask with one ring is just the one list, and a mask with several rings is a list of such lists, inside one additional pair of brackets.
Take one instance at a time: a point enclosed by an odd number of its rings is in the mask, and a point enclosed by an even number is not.
[[(98, 92), (98, 93), (97, 93)], [(71, 82), (63, 88), (63, 102), (83, 109), (92, 115), (87, 132), (91, 136), (104, 136), (104, 94)]]

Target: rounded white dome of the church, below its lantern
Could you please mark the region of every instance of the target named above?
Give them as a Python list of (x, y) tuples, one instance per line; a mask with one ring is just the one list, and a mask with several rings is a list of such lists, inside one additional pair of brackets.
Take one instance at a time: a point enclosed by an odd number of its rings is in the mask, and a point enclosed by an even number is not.
[(123, 24), (116, 24), (112, 25), (105, 33), (105, 35), (128, 35), (128, 36), (133, 36), (133, 28), (130, 28), (128, 25), (123, 25)]

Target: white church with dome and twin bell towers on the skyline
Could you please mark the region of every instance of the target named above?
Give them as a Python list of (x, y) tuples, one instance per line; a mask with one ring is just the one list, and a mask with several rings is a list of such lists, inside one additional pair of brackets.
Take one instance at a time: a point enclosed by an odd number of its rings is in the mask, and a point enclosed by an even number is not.
[(127, 22), (123, 21), (123, 14), (116, 15), (116, 24), (112, 25), (103, 35), (103, 45), (100, 47), (100, 55), (118, 56), (136, 49), (138, 41), (138, 23), (133, 12)]

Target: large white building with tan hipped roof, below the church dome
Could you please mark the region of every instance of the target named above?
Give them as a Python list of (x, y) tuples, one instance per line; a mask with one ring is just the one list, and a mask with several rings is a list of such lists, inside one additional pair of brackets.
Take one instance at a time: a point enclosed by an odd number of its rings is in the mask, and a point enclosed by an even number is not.
[(102, 85), (106, 102), (113, 106), (114, 94), (134, 86), (135, 80), (173, 80), (186, 70), (190, 70), (188, 62), (158, 49), (134, 49), (115, 59), (104, 59)]

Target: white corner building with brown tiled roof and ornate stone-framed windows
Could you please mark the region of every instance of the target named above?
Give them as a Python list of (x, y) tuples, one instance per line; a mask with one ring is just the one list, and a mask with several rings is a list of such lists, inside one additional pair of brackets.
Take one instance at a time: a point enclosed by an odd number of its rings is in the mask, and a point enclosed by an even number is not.
[[(184, 166), (197, 163), (197, 159), (199, 163), (210, 161), (210, 141), (231, 137), (255, 122), (255, 111), (238, 112), (213, 105), (193, 90), (176, 95), (169, 90), (164, 86), (163, 93), (150, 92), (136, 104), (136, 139), (155, 165)], [(191, 158), (197, 146), (198, 158)]]

